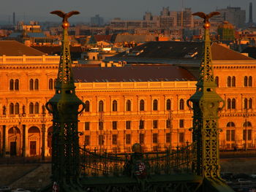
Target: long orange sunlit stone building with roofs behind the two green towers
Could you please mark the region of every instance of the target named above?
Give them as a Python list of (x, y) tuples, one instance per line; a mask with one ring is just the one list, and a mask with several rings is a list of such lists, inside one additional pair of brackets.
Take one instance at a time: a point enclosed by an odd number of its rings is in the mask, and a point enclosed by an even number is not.
[[(184, 47), (187, 66), (176, 59), (177, 64), (171, 65), (165, 61), (165, 65), (74, 67), (76, 93), (86, 104), (79, 116), (80, 145), (123, 152), (135, 142), (144, 150), (190, 143), (192, 111), (187, 99), (195, 92), (200, 64), (195, 57), (200, 50), (194, 46), (195, 54)], [(217, 92), (226, 101), (219, 114), (220, 145), (255, 148), (255, 59), (220, 45), (211, 49)], [(14, 41), (0, 42), (1, 155), (50, 155), (52, 116), (44, 113), (43, 106), (53, 96), (58, 66), (59, 56)]]

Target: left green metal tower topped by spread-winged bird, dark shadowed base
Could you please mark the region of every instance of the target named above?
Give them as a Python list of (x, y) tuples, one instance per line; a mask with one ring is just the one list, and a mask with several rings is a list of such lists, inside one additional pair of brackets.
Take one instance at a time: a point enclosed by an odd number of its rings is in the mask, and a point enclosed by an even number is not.
[[(64, 14), (61, 11), (54, 11), (50, 13), (63, 18), (63, 40), (56, 93), (45, 106), (49, 112), (53, 113), (52, 178), (53, 183), (59, 186), (59, 191), (80, 191), (78, 184), (80, 175), (78, 114), (83, 111), (85, 104), (75, 95), (67, 33), (69, 27), (67, 18), (79, 12), (72, 11)], [(83, 107), (78, 111), (80, 104)]]

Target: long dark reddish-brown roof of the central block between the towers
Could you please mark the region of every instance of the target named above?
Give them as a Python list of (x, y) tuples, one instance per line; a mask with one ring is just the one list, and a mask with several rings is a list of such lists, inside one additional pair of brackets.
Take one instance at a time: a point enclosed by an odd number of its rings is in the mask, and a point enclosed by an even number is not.
[(180, 66), (74, 67), (76, 82), (195, 81)]

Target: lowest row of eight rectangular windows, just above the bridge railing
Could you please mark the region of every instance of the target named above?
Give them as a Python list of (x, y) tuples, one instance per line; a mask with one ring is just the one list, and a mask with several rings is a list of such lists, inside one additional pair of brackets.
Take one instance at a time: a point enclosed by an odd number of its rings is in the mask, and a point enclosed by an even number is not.
[[(144, 144), (145, 141), (145, 134), (139, 134), (139, 142), (140, 144)], [(159, 134), (152, 134), (152, 142), (154, 144), (157, 144), (159, 142)], [(170, 133), (166, 133), (165, 134), (165, 142), (170, 143), (171, 142), (171, 135)], [(112, 145), (118, 145), (118, 134), (112, 134)], [(132, 136), (131, 134), (126, 134), (125, 135), (125, 143), (127, 145), (130, 145), (132, 141)], [(184, 142), (184, 132), (178, 133), (178, 142)], [(100, 134), (98, 136), (98, 144), (99, 145), (104, 145), (105, 143), (105, 137), (104, 135)], [(90, 136), (86, 135), (85, 136), (85, 140), (84, 140), (84, 144), (86, 146), (90, 145)]]

